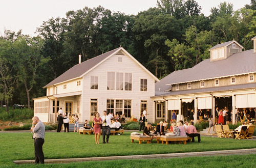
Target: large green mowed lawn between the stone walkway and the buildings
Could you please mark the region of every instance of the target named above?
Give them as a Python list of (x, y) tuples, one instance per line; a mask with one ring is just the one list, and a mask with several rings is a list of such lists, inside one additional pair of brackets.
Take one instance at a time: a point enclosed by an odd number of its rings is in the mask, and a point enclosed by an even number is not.
[[(204, 136), (201, 137), (201, 143), (197, 143), (196, 138), (195, 143), (187, 143), (186, 145), (162, 145), (157, 144), (156, 141), (153, 141), (152, 144), (144, 142), (139, 145), (138, 141), (131, 143), (130, 133), (125, 132), (124, 135), (111, 135), (109, 144), (102, 144), (102, 136), (100, 136), (101, 144), (96, 145), (94, 135), (80, 135), (77, 132), (46, 132), (45, 144), (43, 146), (45, 159), (256, 148), (255, 141)], [(27, 159), (34, 159), (34, 145), (31, 133), (0, 133), (0, 166), (14, 166), (13, 160)], [(70, 166), (76, 166), (76, 164), (81, 163), (74, 163), (74, 165)], [(82, 164), (86, 165), (88, 163)], [(109, 164), (112, 165), (111, 161)]]

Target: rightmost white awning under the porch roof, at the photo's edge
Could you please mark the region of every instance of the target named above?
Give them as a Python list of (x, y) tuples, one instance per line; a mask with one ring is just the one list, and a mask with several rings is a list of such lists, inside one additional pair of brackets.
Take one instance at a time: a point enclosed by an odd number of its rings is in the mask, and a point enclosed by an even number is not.
[(255, 101), (255, 94), (236, 95), (237, 108), (256, 107)]

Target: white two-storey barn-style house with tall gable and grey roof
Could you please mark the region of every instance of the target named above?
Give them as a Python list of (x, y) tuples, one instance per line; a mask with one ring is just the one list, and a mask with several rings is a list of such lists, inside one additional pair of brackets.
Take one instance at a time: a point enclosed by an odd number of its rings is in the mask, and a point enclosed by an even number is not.
[(34, 98), (34, 116), (42, 122), (56, 122), (60, 107), (79, 122), (93, 120), (103, 110), (139, 119), (144, 109), (148, 121), (155, 121), (152, 96), (159, 81), (122, 47), (73, 66), (48, 83), (45, 97)]

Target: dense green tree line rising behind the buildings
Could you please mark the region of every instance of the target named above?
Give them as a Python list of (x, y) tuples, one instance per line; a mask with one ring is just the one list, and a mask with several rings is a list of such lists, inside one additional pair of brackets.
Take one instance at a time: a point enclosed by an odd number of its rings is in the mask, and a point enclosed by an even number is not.
[(208, 59), (212, 46), (237, 40), (244, 50), (256, 36), (256, 3), (234, 11), (221, 3), (201, 13), (194, 0), (158, 0), (158, 7), (126, 15), (99, 6), (68, 11), (37, 27), (37, 37), (5, 31), (0, 37), (1, 106), (31, 107), (47, 83), (82, 61), (122, 46), (158, 78)]

